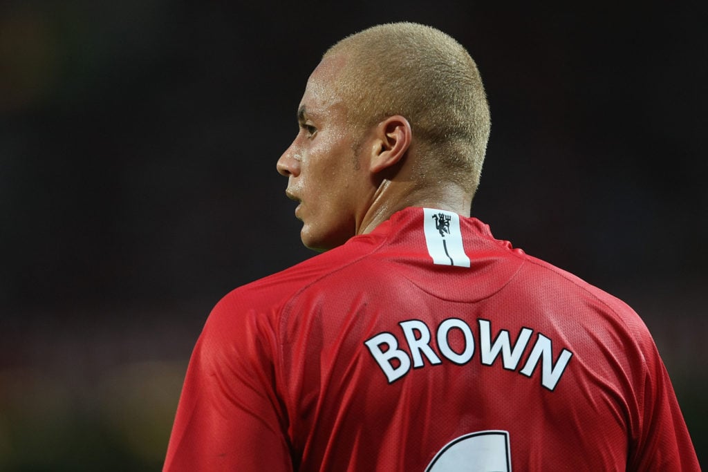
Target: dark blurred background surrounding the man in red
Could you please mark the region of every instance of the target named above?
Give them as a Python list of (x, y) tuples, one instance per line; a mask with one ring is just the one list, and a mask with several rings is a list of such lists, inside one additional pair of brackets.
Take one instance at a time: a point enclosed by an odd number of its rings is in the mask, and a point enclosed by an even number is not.
[(275, 172), (309, 72), (401, 20), (486, 83), (474, 216), (640, 313), (708, 460), (705, 2), (565, 3), (0, 4), (0, 469), (161, 467), (212, 306), (313, 255)]

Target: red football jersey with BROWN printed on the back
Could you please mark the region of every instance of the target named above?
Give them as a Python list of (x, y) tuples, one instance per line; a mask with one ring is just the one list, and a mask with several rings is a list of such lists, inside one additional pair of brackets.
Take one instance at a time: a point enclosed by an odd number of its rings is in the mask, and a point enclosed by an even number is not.
[(615, 297), (409, 208), (219, 301), (167, 471), (700, 470)]

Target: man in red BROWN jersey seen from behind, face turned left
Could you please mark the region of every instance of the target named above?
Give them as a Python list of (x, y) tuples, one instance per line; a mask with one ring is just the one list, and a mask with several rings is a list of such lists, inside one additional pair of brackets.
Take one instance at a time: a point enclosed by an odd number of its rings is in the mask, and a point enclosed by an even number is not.
[(215, 306), (166, 470), (699, 469), (639, 317), (469, 217), (489, 109), (461, 45), (345, 38), (297, 119), (278, 171), (326, 252)]

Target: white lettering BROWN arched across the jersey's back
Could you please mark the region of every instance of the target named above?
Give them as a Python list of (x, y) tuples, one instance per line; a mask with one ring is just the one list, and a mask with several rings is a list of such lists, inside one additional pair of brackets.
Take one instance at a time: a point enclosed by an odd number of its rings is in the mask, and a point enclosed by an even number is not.
[[(541, 333), (532, 341), (531, 328), (522, 328), (513, 343), (508, 330), (492, 335), (491, 321), (483, 318), (477, 319), (476, 330), (460, 318), (447, 318), (437, 330), (431, 330), (420, 320), (401, 321), (399, 326), (398, 336), (384, 331), (364, 342), (389, 384), (408, 374), (411, 368), (425, 367), (426, 362), (442, 364), (442, 359), (446, 359), (457, 365), (467, 364), (479, 348), (482, 365), (492, 366), (501, 357), (504, 369), (518, 370), (527, 377), (539, 372), (542, 386), (553, 391), (573, 357), (572, 352), (561, 349), (554, 361), (552, 341)], [(539, 365), (541, 368), (537, 369)]]

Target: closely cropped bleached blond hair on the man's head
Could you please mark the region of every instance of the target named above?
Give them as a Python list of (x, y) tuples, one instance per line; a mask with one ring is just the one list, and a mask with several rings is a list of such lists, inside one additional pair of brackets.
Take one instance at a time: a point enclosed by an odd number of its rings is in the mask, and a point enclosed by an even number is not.
[(474, 195), (490, 119), (467, 50), (430, 26), (389, 23), (344, 38), (324, 57), (339, 54), (346, 64), (336, 87), (348, 105), (350, 125), (366, 129), (389, 116), (406, 117), (414, 146), (424, 156), (418, 176), (428, 181), (445, 176)]

